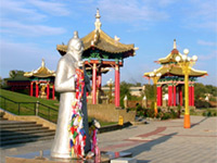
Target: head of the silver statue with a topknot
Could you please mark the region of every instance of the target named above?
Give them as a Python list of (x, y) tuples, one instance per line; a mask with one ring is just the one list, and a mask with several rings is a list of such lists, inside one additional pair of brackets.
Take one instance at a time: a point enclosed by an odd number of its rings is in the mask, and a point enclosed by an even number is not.
[(82, 54), (84, 43), (78, 37), (78, 32), (74, 32), (74, 37), (69, 39), (67, 45), (67, 52), (73, 52), (76, 54)]

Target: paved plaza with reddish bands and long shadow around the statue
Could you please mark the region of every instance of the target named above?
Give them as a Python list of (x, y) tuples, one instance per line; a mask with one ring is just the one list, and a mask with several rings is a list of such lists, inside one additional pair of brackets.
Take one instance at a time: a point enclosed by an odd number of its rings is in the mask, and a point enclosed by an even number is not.
[[(138, 163), (217, 163), (217, 117), (191, 116), (192, 127), (183, 128), (183, 118), (149, 121), (98, 135), (102, 151), (132, 152)], [(5, 155), (49, 150), (52, 140), (2, 148)]]

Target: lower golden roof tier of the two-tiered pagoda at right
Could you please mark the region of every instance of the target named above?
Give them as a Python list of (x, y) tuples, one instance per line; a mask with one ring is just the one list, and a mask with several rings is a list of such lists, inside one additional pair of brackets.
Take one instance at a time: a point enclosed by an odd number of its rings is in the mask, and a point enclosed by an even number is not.
[[(154, 72), (144, 73), (144, 76), (150, 77), (151, 73), (154, 73), (154, 74), (161, 73), (162, 76), (184, 76), (182, 73), (182, 68), (177, 64), (174, 64), (170, 66), (163, 65)], [(197, 70), (190, 67), (190, 74), (189, 74), (190, 77), (201, 77), (201, 76), (205, 76), (205, 75), (207, 75), (207, 72), (197, 71)]]

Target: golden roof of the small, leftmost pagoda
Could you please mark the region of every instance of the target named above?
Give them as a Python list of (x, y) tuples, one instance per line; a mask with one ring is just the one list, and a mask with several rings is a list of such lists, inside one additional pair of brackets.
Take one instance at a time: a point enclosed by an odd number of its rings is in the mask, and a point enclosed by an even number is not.
[(26, 76), (26, 77), (54, 77), (55, 72), (47, 68), (44, 60), (42, 59), (41, 66), (38, 70), (31, 71), (31, 72), (26, 72), (24, 74), (24, 76)]

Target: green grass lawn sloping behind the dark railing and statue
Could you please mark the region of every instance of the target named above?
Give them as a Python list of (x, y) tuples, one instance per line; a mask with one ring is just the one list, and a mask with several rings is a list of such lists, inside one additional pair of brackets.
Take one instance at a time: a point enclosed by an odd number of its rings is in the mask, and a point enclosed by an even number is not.
[[(39, 101), (41, 104), (38, 105), (38, 115), (56, 123), (58, 111), (54, 111), (54, 110), (59, 110), (58, 100), (39, 99), (36, 97), (30, 97), (27, 95), (9, 91), (4, 89), (0, 89), (0, 96), (15, 101), (15, 102), (12, 102), (9, 100), (4, 100), (3, 98), (0, 97), (0, 108), (5, 109), (9, 112), (17, 114), (17, 115), (18, 114), (20, 115), (35, 115), (35, 109), (36, 109), (35, 102)], [(18, 105), (18, 103), (16, 102), (22, 102), (22, 103), (20, 103)], [(23, 102), (27, 102), (27, 103), (23, 103)], [(34, 102), (34, 103), (30, 103), (30, 102)], [(51, 109), (49, 110), (48, 106), (44, 106), (42, 104), (46, 104), (50, 106)], [(18, 108), (20, 108), (20, 111), (18, 111)], [(91, 121), (91, 117), (89, 117), (88, 120)], [(117, 124), (117, 123), (100, 121), (100, 124), (101, 126), (106, 126), (106, 125), (112, 125), (112, 124)]]

